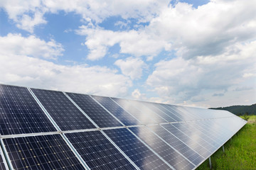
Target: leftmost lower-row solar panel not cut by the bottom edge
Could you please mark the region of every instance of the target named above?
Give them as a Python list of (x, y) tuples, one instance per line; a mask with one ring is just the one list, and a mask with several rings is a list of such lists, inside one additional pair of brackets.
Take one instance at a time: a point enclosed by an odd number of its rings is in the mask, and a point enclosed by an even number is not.
[(181, 140), (178, 140), (177, 137), (172, 135), (170, 132), (162, 128), (160, 125), (151, 125), (149, 128), (159, 135), (165, 142), (167, 142), (171, 147), (174, 147), (178, 152), (183, 154), (186, 158), (188, 158), (193, 164), (199, 164), (203, 161), (203, 157), (201, 157), (196, 151), (188, 147)]

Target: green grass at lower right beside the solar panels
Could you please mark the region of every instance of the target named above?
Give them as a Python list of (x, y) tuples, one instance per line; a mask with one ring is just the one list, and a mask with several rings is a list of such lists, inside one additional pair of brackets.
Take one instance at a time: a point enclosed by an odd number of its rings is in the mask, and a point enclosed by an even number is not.
[[(241, 116), (242, 118), (242, 116)], [(212, 169), (256, 170), (256, 115), (250, 115), (248, 123), (225, 143), (211, 157)], [(209, 168), (209, 160), (198, 166), (196, 170)]]

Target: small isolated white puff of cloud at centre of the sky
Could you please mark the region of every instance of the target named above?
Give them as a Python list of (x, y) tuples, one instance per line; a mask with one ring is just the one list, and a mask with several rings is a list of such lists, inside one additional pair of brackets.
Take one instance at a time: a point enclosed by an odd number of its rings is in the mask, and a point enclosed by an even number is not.
[(122, 74), (131, 77), (131, 79), (139, 79), (142, 77), (142, 71), (146, 68), (146, 64), (139, 58), (128, 57), (126, 60), (117, 60), (114, 62)]

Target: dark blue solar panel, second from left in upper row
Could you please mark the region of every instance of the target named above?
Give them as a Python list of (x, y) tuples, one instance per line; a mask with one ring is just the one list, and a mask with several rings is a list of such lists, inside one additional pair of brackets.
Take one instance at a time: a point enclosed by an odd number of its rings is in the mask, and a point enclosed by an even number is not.
[(61, 130), (96, 128), (63, 92), (31, 90)]

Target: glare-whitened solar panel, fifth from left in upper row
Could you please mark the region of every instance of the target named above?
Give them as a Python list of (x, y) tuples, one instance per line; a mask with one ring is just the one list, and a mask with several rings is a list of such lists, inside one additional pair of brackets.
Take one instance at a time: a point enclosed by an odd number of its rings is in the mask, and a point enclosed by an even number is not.
[(132, 114), (137, 120), (139, 120), (142, 124), (148, 125), (148, 124), (156, 124), (156, 120), (151, 118), (149, 115), (146, 115), (145, 113), (142, 113), (142, 111), (139, 111), (138, 108), (134, 107), (132, 103), (125, 99), (120, 98), (112, 98), (114, 101), (116, 101), (119, 106), (122, 106), (125, 111)]

